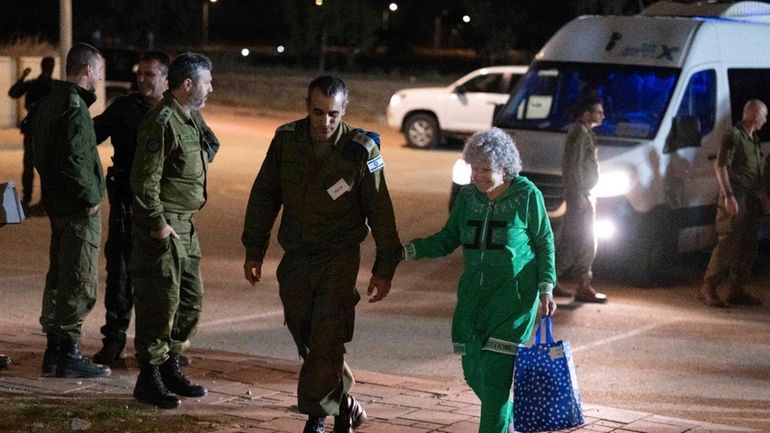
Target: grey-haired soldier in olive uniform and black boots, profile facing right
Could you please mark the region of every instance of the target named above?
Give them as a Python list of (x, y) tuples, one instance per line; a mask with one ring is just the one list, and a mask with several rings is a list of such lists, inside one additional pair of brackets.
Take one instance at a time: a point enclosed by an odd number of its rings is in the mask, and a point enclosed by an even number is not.
[(169, 65), (168, 85), (137, 137), (129, 272), (140, 365), (134, 398), (176, 408), (174, 394), (207, 392), (184, 375), (179, 356), (190, 345), (203, 301), (193, 215), (206, 203), (206, 172), (216, 149), (207, 147), (196, 112), (212, 91), (211, 61), (196, 53), (178, 55)]

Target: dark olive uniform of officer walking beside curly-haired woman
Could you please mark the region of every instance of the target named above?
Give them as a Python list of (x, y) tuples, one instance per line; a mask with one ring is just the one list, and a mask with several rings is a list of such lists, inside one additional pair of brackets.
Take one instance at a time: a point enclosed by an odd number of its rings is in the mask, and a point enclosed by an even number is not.
[[(277, 270), (286, 324), (304, 359), (298, 408), (337, 415), (354, 380), (344, 361), (353, 337), (359, 244), (372, 229), (372, 274), (392, 279), (401, 251), (379, 147), (340, 123), (329, 143), (313, 146), (307, 118), (281, 126), (254, 181), (246, 209), (247, 261), (262, 261), (283, 207)], [(368, 227), (367, 227), (368, 224)]]

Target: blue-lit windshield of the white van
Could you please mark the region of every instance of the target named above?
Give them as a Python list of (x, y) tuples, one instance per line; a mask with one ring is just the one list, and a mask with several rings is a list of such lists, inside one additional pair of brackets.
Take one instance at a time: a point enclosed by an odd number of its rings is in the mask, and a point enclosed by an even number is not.
[(679, 69), (597, 63), (534, 63), (495, 119), (495, 126), (567, 131), (575, 102), (586, 94), (604, 101), (605, 137), (652, 138), (671, 99)]

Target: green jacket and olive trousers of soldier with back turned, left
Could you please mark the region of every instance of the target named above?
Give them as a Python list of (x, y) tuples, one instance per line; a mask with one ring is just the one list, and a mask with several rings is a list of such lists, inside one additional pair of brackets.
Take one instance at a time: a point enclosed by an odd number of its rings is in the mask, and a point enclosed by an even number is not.
[(49, 335), (79, 342), (83, 320), (96, 302), (101, 242), (99, 212), (104, 175), (88, 107), (93, 92), (55, 82), (34, 112), (35, 167), (51, 222), (50, 264), (40, 324)]

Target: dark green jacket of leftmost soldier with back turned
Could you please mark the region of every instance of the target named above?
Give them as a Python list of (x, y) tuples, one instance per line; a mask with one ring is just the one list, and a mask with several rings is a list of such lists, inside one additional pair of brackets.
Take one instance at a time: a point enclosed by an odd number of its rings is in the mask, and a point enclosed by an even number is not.
[(104, 198), (104, 174), (88, 107), (93, 92), (56, 81), (30, 122), (43, 204), (54, 217), (85, 214)]

